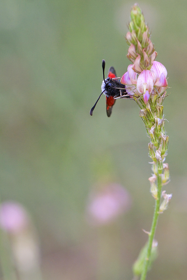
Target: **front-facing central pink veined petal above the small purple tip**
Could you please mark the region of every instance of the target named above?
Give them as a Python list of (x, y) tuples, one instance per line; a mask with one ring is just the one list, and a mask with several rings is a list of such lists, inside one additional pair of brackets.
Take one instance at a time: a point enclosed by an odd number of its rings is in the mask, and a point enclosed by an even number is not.
[(143, 70), (142, 73), (138, 76), (136, 88), (140, 93), (151, 93), (154, 86), (153, 76), (150, 70)]

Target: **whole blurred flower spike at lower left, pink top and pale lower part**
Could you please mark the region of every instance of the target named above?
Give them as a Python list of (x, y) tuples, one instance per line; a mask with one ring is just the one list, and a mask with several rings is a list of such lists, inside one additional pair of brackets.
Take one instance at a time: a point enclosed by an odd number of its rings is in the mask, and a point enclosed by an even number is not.
[(3, 202), (0, 227), (8, 233), (18, 278), (41, 279), (38, 237), (29, 213), (17, 202)]

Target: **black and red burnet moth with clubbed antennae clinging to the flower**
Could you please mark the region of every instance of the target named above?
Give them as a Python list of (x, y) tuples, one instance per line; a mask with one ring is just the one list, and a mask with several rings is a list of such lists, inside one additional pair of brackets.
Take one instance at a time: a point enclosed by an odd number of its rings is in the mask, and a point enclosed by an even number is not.
[[(103, 68), (103, 78), (104, 78), (104, 68), (105, 68), (105, 61), (103, 59), (102, 61), (102, 68)], [(130, 96), (127, 94), (125, 90), (125, 85), (120, 83), (121, 78), (117, 78), (116, 71), (114, 67), (110, 67), (108, 70), (108, 76), (107, 78), (102, 81), (101, 84), (101, 94), (98, 98), (100, 99), (101, 95), (106, 95), (106, 113), (107, 116), (110, 117), (112, 113), (112, 107), (114, 106), (115, 99), (117, 98), (130, 98)], [(98, 100), (96, 101), (95, 105), (90, 110), (90, 115), (92, 116), (93, 110), (96, 107), (96, 104), (98, 103)]]

